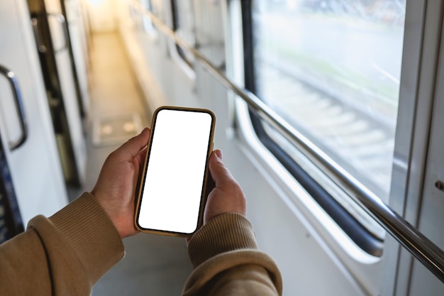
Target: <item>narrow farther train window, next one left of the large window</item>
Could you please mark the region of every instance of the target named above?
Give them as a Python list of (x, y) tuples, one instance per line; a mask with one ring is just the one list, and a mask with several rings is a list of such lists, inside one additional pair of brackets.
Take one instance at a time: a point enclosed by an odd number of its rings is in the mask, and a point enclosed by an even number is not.
[[(172, 0), (172, 25), (174, 32), (182, 38), (187, 45), (194, 47), (196, 45), (196, 38), (194, 35), (194, 9), (193, 1), (179, 1)], [(182, 57), (182, 60), (192, 67), (194, 62), (194, 55), (188, 53), (179, 45), (176, 45), (177, 53)]]

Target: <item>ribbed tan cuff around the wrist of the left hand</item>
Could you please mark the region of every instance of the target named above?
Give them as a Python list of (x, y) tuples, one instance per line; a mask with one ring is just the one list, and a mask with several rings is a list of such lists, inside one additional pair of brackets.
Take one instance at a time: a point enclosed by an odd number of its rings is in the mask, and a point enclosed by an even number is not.
[(72, 246), (93, 284), (125, 256), (116, 227), (89, 192), (51, 216), (50, 221)]

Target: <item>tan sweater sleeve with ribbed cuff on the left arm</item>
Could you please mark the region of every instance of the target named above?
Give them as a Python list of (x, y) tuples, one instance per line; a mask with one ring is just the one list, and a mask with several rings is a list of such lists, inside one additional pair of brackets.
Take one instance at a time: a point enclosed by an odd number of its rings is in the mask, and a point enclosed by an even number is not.
[(0, 246), (0, 295), (90, 295), (123, 256), (111, 220), (84, 193), (49, 219), (36, 216)]

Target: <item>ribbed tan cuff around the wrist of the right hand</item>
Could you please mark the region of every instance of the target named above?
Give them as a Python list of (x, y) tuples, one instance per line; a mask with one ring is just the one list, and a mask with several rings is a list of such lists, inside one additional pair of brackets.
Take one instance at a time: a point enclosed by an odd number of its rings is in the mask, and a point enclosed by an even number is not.
[(192, 236), (188, 255), (196, 268), (220, 253), (243, 249), (258, 249), (252, 225), (241, 214), (226, 213), (211, 219)]

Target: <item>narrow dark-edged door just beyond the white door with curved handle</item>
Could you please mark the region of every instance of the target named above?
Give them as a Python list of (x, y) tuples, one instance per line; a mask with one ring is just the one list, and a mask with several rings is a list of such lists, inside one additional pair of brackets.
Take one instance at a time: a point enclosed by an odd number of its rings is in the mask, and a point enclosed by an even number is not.
[(67, 21), (59, 1), (28, 1), (28, 5), (65, 180), (80, 185), (85, 178), (86, 146)]

